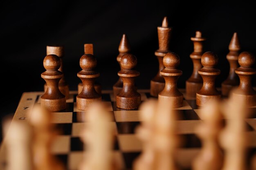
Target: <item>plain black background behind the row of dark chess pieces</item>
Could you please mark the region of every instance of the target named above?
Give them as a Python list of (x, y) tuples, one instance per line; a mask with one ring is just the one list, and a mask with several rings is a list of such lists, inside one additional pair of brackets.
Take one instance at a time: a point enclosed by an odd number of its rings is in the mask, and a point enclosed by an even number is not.
[(255, 7), (245, 1), (11, 1), (0, 5), (0, 13), (1, 117), (15, 112), (23, 92), (43, 91), (40, 74), (45, 71), (43, 59), (50, 44), (65, 47), (64, 73), (70, 90), (77, 90), (80, 82), (76, 73), (81, 70), (84, 43), (94, 44), (102, 88), (112, 88), (118, 79), (116, 57), (123, 33), (138, 60), (136, 69), (141, 75), (136, 84), (149, 88), (158, 70), (154, 51), (158, 49), (157, 26), (164, 16), (173, 27), (170, 49), (181, 60), (179, 88), (185, 87), (192, 73), (190, 38), (196, 30), (207, 38), (204, 51), (219, 57), (218, 87), (229, 72), (226, 55), (234, 32), (241, 51), (256, 53)]

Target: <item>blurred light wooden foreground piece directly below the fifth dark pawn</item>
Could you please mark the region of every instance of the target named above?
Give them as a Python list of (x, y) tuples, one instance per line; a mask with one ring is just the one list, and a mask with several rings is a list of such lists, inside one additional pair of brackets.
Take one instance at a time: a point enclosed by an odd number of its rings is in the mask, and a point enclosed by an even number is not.
[(210, 102), (200, 110), (202, 123), (195, 128), (197, 136), (202, 141), (202, 148), (193, 160), (193, 170), (220, 170), (223, 154), (218, 137), (222, 129), (222, 115), (218, 102)]

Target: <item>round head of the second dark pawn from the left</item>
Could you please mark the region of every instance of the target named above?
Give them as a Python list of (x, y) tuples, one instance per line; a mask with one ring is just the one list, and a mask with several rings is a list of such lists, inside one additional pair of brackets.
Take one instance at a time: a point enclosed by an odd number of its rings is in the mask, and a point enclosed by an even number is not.
[(84, 54), (80, 58), (80, 67), (83, 70), (92, 70), (97, 66), (97, 60), (92, 54)]

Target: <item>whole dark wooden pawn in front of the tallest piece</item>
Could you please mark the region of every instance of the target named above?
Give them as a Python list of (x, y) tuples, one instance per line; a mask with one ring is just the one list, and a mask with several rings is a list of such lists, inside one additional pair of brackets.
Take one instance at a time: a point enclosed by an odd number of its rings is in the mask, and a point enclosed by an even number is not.
[[(177, 67), (180, 65), (180, 57), (175, 53), (167, 53), (164, 56), (164, 68), (160, 74), (165, 79), (165, 87), (158, 95), (159, 102), (170, 103), (174, 108), (183, 106), (183, 94), (177, 88), (177, 80), (182, 75), (182, 71)], [(171, 103), (173, 102), (173, 103)]]

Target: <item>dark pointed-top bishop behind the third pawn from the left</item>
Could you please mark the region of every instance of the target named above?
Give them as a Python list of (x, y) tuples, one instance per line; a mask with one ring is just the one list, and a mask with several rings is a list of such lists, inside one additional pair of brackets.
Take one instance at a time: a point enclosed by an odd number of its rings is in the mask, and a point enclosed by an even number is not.
[[(131, 51), (130, 43), (128, 41), (128, 38), (127, 38), (126, 34), (123, 34), (123, 37), (122, 37), (121, 42), (119, 44), (118, 51), (119, 51), (119, 55), (117, 55), (117, 62), (120, 65), (121, 70), (123, 70), (123, 68), (121, 67), (121, 64), (120, 64), (121, 57), (125, 53), (130, 53), (130, 51)], [(113, 93), (114, 93), (115, 97), (122, 90), (122, 88), (123, 88), (123, 80), (121, 79), (121, 77), (119, 77), (118, 81), (113, 86)]]

